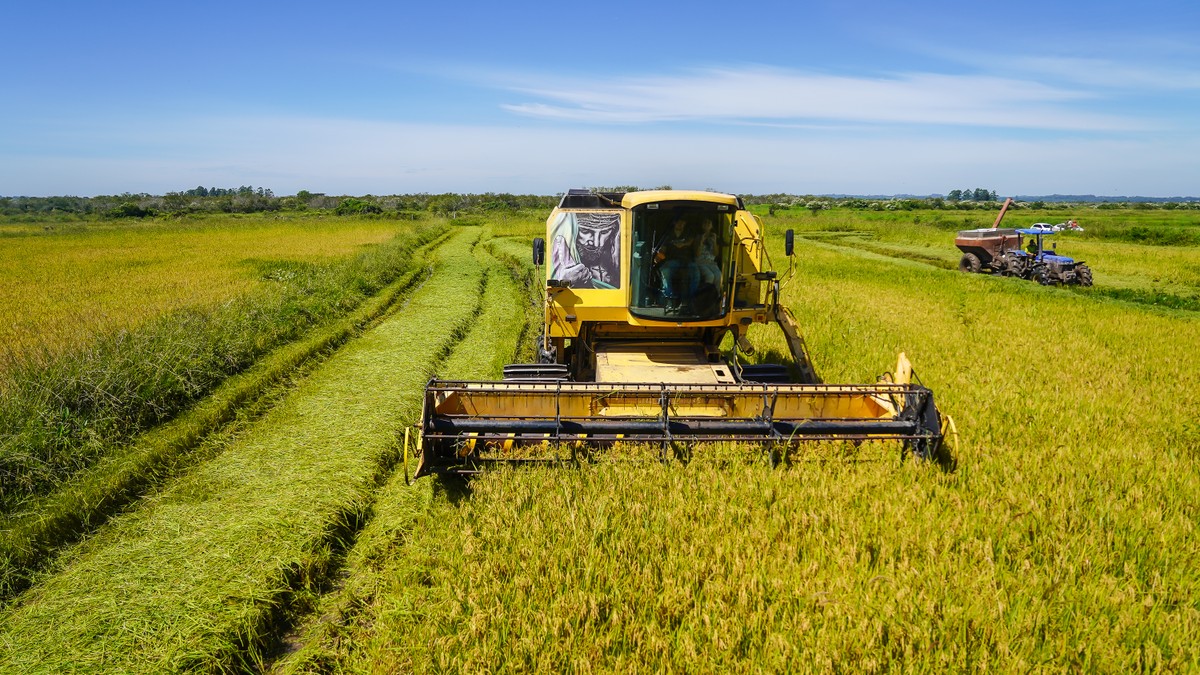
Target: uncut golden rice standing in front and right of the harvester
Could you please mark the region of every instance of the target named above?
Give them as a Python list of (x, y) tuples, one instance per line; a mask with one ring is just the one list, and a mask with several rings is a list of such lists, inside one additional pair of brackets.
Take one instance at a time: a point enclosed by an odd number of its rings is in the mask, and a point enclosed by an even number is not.
[(394, 480), (353, 592), (282, 670), (1200, 668), (1195, 313), (800, 249), (784, 298), (821, 375), (906, 351), (956, 472), (895, 452)]

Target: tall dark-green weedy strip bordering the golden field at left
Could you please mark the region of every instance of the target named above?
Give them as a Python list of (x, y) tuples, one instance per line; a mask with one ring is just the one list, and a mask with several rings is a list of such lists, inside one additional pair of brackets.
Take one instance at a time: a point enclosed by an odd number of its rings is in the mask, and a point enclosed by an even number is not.
[(408, 229), (336, 262), (270, 263), (274, 283), (258, 292), (103, 335), (48, 363), (18, 362), (0, 383), (0, 513), (19, 513), (270, 350), (344, 316), (412, 269), (438, 232)]

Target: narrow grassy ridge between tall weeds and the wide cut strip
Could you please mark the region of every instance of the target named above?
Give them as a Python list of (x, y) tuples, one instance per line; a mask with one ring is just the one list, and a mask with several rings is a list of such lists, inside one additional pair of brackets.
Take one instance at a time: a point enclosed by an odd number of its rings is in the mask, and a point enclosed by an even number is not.
[[(413, 252), (419, 264), (428, 244)], [(24, 589), (49, 555), (102, 524), (145, 490), (204, 459), (200, 446), (223, 425), (246, 424), (269, 407), (272, 393), (313, 368), (320, 358), (391, 309), (398, 295), (426, 275), (412, 269), (349, 316), (259, 359), (230, 377), (176, 419), (155, 428), (106, 455), (58, 490), (28, 503), (23, 514), (5, 519), (0, 539), (0, 599)]]

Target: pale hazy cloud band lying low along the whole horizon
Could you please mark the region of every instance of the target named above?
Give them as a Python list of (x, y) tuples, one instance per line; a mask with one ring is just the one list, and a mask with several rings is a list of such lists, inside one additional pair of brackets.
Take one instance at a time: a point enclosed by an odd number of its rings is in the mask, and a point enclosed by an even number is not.
[[(354, 119), (160, 120), (127, 130), (162, 151), (138, 156), (0, 153), (8, 195), (163, 193), (194, 185), (263, 185), (276, 193), (497, 191), (554, 193), (596, 185), (672, 185), (732, 192), (1001, 193), (1194, 192), (1194, 141), (967, 139), (942, 133), (685, 132), (364, 123)], [(114, 130), (115, 132), (115, 130)], [(184, 141), (187, 138), (187, 141)], [(642, 161), (631, 162), (636, 150)], [(740, 159), (744, 161), (732, 161)]]

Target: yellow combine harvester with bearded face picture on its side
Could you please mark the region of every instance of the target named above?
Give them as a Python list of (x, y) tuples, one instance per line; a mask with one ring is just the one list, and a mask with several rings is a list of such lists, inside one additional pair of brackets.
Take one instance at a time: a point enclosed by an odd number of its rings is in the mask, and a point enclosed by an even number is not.
[[(571, 190), (533, 244), (546, 264), (539, 363), (506, 366), (502, 382), (432, 380), (418, 477), (616, 443), (752, 443), (778, 458), (804, 441), (890, 440), (950, 461), (952, 423), (902, 353), (875, 384), (821, 382), (739, 197)], [(756, 323), (782, 329), (791, 364), (742, 363)]]

